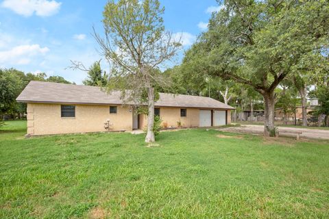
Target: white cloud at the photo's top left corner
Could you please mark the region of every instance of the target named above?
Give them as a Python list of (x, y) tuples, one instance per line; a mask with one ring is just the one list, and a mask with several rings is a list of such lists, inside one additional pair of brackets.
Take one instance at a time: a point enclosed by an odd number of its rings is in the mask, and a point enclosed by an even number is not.
[(62, 3), (55, 0), (4, 0), (1, 3), (3, 8), (9, 8), (23, 16), (51, 16), (60, 10)]

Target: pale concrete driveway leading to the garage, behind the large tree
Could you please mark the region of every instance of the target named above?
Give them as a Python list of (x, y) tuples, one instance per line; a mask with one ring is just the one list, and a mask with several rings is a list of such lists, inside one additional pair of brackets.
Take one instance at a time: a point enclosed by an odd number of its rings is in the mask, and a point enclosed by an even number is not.
[[(221, 131), (236, 132), (236, 133), (264, 133), (263, 125), (241, 125), (241, 127), (228, 127), (220, 129)], [(283, 133), (284, 131), (300, 131), (302, 134), (300, 138), (313, 138), (329, 140), (329, 130), (321, 129), (307, 129), (307, 128), (295, 128), (295, 127), (278, 127), (280, 136), (296, 136), (292, 133)], [(282, 131), (282, 133), (280, 133)]]

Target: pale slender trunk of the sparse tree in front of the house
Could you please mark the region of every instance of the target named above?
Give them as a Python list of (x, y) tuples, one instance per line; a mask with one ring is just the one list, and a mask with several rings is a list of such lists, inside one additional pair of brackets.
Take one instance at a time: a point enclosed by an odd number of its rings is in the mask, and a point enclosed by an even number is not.
[(147, 134), (145, 138), (145, 142), (155, 142), (154, 137), (154, 88), (147, 88), (147, 97), (148, 97), (148, 111), (147, 115)]

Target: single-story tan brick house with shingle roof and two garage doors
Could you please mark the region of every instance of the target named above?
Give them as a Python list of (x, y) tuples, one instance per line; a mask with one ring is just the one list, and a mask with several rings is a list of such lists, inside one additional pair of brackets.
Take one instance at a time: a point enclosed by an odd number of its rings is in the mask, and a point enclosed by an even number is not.
[[(16, 101), (27, 103), (27, 135), (145, 129), (147, 116), (123, 103), (121, 92), (99, 87), (31, 81)], [(230, 124), (230, 107), (204, 96), (160, 93), (155, 114), (164, 127)], [(106, 129), (106, 127), (110, 127)]]

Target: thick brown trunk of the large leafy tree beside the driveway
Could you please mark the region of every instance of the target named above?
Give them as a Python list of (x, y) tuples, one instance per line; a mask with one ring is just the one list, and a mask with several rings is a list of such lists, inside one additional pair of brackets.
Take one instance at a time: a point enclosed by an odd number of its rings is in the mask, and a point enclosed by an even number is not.
[(265, 112), (264, 112), (264, 136), (276, 136), (274, 127), (274, 105), (275, 99), (273, 92), (264, 92)]

